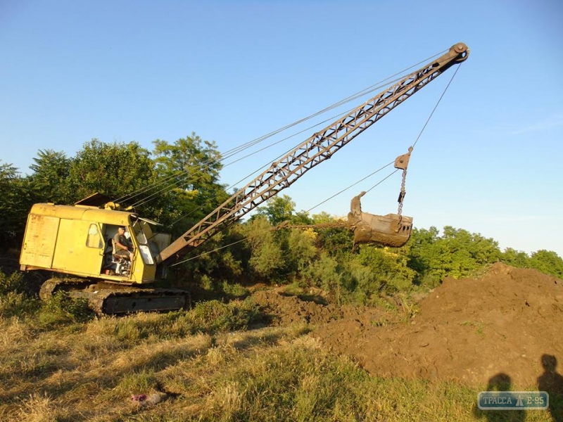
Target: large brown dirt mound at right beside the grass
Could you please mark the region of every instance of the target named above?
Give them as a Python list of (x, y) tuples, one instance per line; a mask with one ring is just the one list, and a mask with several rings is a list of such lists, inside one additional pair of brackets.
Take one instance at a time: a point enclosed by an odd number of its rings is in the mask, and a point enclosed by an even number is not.
[(544, 355), (563, 362), (562, 334), (563, 281), (504, 264), (481, 279), (445, 279), (410, 320), (364, 314), (314, 332), (374, 375), (482, 385), (505, 373), (521, 386), (536, 384)]

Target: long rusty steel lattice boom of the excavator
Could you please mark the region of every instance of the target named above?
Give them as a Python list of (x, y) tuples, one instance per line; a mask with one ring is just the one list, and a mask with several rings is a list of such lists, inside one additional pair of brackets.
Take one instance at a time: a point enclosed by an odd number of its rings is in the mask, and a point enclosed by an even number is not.
[(273, 162), (231, 198), (219, 205), (207, 217), (191, 227), (186, 233), (160, 252), (163, 262), (189, 246), (198, 246), (228, 224), (246, 215), (281, 189), (290, 186), (305, 172), (320, 162), (331, 158), (348, 142), (381, 119), (388, 112), (403, 103), (412, 94), (425, 87), (452, 65), (461, 63), (469, 56), (469, 49), (463, 43), (453, 45), (448, 53), (412, 72), (396, 84), (377, 94), (369, 101), (355, 108), (346, 117), (315, 133), (287, 153), (284, 158)]

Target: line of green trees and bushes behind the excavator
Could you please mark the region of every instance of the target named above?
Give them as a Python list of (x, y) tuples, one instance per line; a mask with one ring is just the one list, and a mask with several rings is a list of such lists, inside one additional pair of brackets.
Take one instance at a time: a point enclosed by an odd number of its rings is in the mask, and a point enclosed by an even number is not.
[[(226, 186), (219, 183), (221, 169), (215, 143), (196, 134), (173, 143), (157, 139), (152, 151), (137, 142), (98, 139), (84, 143), (74, 157), (40, 150), (26, 176), (0, 162), (0, 248), (20, 247), (32, 204), (72, 204), (96, 192), (132, 205), (176, 238), (229, 198)], [(471, 276), (499, 261), (563, 278), (563, 260), (555, 252), (501, 251), (492, 238), (451, 226), (443, 227), (442, 234), (434, 226), (415, 228), (402, 248), (360, 245), (353, 251), (348, 229), (314, 226), (334, 221), (326, 212), (296, 211), (289, 196), (271, 198), (252, 217), (196, 251), (217, 252), (174, 267), (176, 276), (208, 286), (294, 283), (363, 303), (382, 293), (433, 287), (445, 276)], [(281, 222), (313, 227), (275, 229)]]

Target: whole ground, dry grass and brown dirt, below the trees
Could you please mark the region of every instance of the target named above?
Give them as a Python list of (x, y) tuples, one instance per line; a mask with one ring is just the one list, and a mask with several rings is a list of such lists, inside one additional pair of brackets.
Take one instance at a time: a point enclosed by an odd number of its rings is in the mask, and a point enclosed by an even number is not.
[[(233, 300), (76, 324), (0, 319), (0, 420), (563, 421), (562, 289), (495, 264), (378, 307), (262, 285), (256, 313)], [(547, 391), (550, 410), (481, 411), (486, 388)]]

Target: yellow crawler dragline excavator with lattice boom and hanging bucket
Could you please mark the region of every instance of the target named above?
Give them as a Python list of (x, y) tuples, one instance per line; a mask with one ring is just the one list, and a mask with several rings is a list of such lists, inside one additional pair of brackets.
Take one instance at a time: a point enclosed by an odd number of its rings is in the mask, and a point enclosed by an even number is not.
[[(135, 212), (119, 210), (95, 194), (75, 205), (38, 203), (27, 217), (20, 268), (65, 274), (47, 280), (40, 291), (45, 299), (58, 290), (75, 298), (87, 298), (101, 314), (182, 309), (189, 303), (184, 290), (151, 288), (165, 267), (179, 254), (198, 248), (208, 238), (236, 222), (268, 198), (287, 188), (305, 172), (320, 164), (436, 79), (469, 56), (463, 43), (443, 56), (403, 77), (345, 117), (310, 136), (283, 158), (273, 162), (213, 212), (171, 242), (157, 233), (155, 222)], [(409, 154), (401, 155), (396, 168), (406, 170)], [(107, 198), (106, 198), (107, 199)], [(403, 245), (410, 236), (412, 219), (400, 215), (368, 215), (361, 212), (360, 196), (354, 198), (348, 225), (355, 241)], [(115, 253), (113, 239), (125, 228), (132, 257)]]

